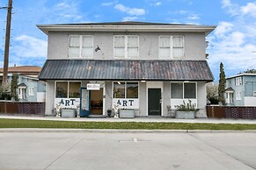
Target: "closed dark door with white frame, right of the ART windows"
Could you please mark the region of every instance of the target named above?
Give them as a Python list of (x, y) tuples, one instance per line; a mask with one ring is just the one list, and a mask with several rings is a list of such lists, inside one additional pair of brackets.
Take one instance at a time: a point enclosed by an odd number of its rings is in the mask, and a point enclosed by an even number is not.
[(148, 89), (149, 116), (161, 116), (161, 89)]

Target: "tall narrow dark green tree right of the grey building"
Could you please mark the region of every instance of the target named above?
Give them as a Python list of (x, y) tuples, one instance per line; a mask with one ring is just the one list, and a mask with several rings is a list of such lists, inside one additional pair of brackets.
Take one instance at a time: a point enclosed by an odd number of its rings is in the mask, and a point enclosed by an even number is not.
[(225, 97), (224, 97), (224, 92), (225, 92), (225, 72), (224, 72), (224, 67), (223, 63), (221, 62), (220, 64), (220, 77), (219, 77), (219, 87), (218, 87), (218, 99), (219, 102), (225, 105)]

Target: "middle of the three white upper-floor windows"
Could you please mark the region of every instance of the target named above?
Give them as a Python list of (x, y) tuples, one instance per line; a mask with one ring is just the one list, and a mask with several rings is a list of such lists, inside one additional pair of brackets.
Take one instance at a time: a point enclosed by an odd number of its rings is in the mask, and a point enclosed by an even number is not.
[(139, 57), (139, 38), (137, 35), (115, 35), (113, 44), (114, 57), (128, 59)]

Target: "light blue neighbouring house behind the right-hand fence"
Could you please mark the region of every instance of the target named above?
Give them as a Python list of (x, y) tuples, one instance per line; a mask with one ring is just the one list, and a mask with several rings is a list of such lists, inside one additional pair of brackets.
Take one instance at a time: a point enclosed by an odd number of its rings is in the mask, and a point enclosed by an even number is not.
[(226, 103), (256, 106), (256, 74), (237, 74), (226, 78)]

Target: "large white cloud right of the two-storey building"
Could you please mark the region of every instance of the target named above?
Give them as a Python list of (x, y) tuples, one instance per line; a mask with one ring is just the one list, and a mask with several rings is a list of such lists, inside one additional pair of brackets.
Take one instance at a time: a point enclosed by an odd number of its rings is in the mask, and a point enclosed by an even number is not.
[[(208, 37), (208, 63), (213, 72), (218, 73), (220, 62), (223, 62), (227, 76), (256, 68), (256, 53), (252, 53), (256, 51), (254, 5), (248, 3), (238, 7), (230, 0), (223, 0), (223, 10), (228, 10), (233, 21), (221, 21)], [(230, 8), (237, 9), (236, 13), (230, 12)]]

